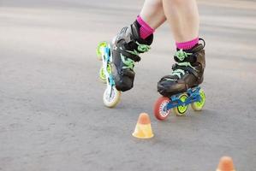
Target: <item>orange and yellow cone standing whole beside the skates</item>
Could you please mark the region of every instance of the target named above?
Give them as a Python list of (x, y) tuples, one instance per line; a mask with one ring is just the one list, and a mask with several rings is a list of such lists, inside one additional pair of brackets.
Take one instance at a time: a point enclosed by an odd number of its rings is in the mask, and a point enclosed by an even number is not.
[(139, 139), (150, 139), (154, 136), (151, 121), (146, 113), (140, 114), (133, 136)]

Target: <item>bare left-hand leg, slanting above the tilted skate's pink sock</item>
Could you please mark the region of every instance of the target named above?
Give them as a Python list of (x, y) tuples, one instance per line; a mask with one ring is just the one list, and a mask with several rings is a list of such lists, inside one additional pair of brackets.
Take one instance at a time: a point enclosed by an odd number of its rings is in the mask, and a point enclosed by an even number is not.
[(161, 26), (166, 21), (162, 0), (146, 0), (140, 11), (140, 17), (154, 29)]

